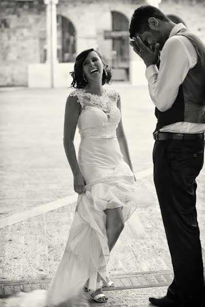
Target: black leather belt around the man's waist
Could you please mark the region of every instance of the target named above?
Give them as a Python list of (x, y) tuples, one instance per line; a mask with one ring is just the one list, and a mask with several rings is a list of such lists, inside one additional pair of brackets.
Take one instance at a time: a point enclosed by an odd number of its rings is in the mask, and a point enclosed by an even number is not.
[(155, 141), (163, 140), (204, 140), (204, 133), (188, 134), (188, 133), (171, 133), (156, 131), (153, 134)]

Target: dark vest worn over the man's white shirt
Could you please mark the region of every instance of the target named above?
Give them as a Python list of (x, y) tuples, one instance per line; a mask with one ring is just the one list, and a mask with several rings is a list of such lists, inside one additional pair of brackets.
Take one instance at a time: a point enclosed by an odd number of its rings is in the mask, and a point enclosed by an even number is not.
[(187, 30), (181, 30), (176, 35), (183, 35), (191, 40), (197, 51), (198, 60), (179, 86), (172, 107), (165, 112), (155, 108), (157, 117), (155, 131), (176, 122), (205, 123), (205, 45)]

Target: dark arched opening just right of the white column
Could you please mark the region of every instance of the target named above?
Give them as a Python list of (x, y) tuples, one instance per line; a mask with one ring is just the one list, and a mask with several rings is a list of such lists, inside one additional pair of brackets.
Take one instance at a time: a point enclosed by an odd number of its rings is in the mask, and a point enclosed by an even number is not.
[(76, 57), (76, 31), (72, 22), (57, 15), (57, 58), (59, 62), (73, 62)]

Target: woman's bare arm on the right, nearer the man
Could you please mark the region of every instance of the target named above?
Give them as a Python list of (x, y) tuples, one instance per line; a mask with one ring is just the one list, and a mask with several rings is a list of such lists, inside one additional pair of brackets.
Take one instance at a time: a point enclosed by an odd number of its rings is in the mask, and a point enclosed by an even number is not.
[[(117, 107), (121, 113), (121, 100), (120, 100), (120, 96), (119, 99), (117, 101)], [(133, 166), (132, 166), (132, 162), (131, 162), (131, 158), (130, 158), (130, 152), (129, 152), (129, 148), (128, 148), (128, 142), (127, 142), (127, 138), (125, 135), (125, 131), (122, 125), (122, 118), (120, 119), (119, 125), (117, 127), (116, 130), (117, 133), (117, 140), (119, 142), (119, 147), (122, 153), (122, 156), (124, 158), (124, 161), (130, 166), (130, 169), (133, 172)]]

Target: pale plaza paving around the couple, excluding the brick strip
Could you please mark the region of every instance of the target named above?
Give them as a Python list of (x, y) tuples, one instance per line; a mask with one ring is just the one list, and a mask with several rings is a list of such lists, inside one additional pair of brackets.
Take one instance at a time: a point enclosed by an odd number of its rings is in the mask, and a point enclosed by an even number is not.
[[(154, 192), (152, 131), (156, 120), (148, 89), (125, 83), (115, 83), (112, 87), (121, 95), (122, 118), (138, 186)], [(69, 93), (70, 89), (0, 92), (0, 225), (3, 221), (8, 225), (0, 229), (2, 284), (9, 280), (51, 278), (64, 252), (75, 210), (75, 200), (67, 202), (69, 195), (73, 195), (73, 181), (63, 148), (64, 108)], [(78, 144), (77, 133), (76, 150)], [(204, 182), (203, 170), (198, 177), (197, 194), (203, 256)], [(39, 215), (32, 215), (32, 210), (39, 208), (46, 210), (40, 209)], [(27, 217), (16, 223), (16, 216), (23, 212), (28, 212)], [(162, 270), (172, 269), (158, 204), (140, 208), (138, 212), (147, 235), (136, 238), (129, 225), (125, 227), (111, 254), (112, 275), (130, 276), (145, 271), (162, 274)], [(12, 223), (7, 223), (8, 218)], [(148, 306), (147, 297), (153, 291), (119, 290), (109, 296), (113, 306)], [(160, 295), (166, 288), (156, 288), (155, 292)]]

